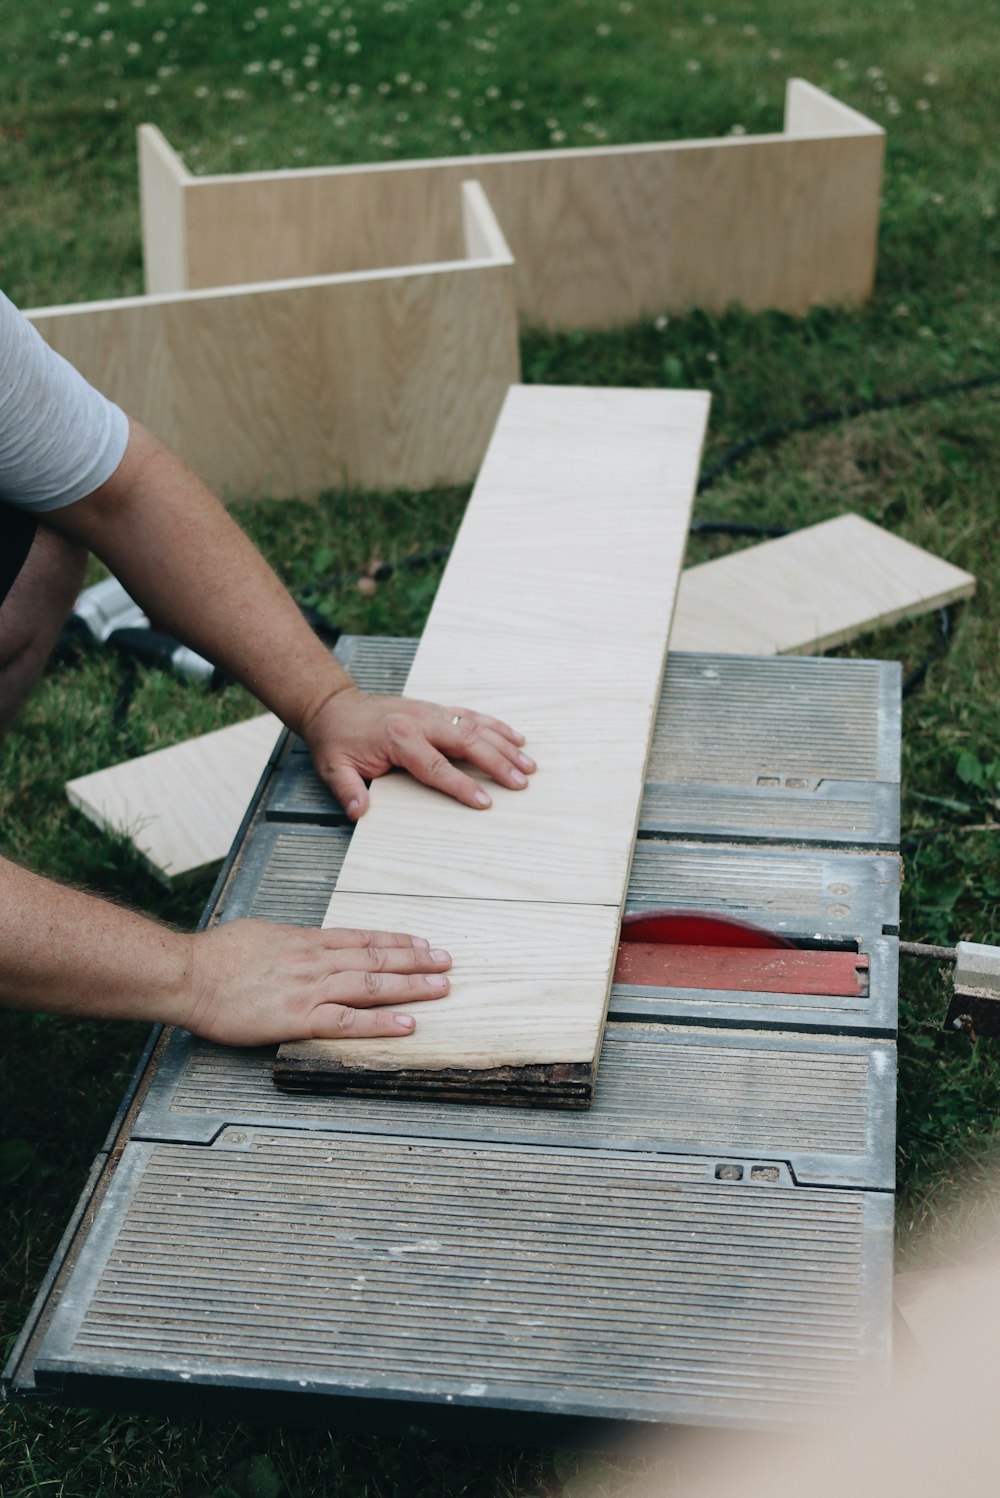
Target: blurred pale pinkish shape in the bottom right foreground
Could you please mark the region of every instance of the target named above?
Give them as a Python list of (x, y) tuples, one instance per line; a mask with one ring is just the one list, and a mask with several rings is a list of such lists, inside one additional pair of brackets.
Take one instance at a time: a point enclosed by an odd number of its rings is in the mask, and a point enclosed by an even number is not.
[(975, 1248), (952, 1242), (940, 1263), (934, 1243), (934, 1267), (897, 1278), (891, 1387), (795, 1435), (678, 1429), (638, 1462), (584, 1461), (567, 1498), (994, 1498), (1000, 1171), (952, 1221), (984, 1216)]

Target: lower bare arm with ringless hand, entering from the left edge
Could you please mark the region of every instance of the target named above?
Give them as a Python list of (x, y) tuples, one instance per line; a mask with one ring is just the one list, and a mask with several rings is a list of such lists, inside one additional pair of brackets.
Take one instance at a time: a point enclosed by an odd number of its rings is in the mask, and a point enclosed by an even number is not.
[(0, 858), (0, 1004), (181, 1025), (237, 1046), (406, 1035), (448, 953), (398, 932), (234, 921), (189, 936)]

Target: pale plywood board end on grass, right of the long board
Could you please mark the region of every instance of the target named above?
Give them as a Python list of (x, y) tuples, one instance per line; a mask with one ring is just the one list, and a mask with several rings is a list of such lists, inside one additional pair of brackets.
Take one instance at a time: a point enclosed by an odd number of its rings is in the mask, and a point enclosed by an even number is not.
[(976, 580), (861, 515), (687, 568), (674, 650), (813, 655), (972, 598)]

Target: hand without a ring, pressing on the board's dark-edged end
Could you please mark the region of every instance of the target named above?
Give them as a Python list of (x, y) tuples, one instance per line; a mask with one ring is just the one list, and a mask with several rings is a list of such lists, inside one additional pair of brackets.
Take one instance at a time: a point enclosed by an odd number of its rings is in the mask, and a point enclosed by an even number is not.
[(313, 930), (231, 921), (192, 936), (178, 1023), (226, 1046), (407, 1035), (380, 1005), (448, 993), (446, 951), (401, 932)]

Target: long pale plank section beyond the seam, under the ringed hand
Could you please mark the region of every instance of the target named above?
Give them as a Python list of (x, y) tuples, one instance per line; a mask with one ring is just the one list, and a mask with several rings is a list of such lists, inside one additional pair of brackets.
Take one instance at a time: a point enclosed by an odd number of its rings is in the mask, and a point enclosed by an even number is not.
[(487, 813), (373, 786), (338, 888), (618, 905), (708, 397), (515, 388), (407, 695), (515, 724), (540, 768)]

